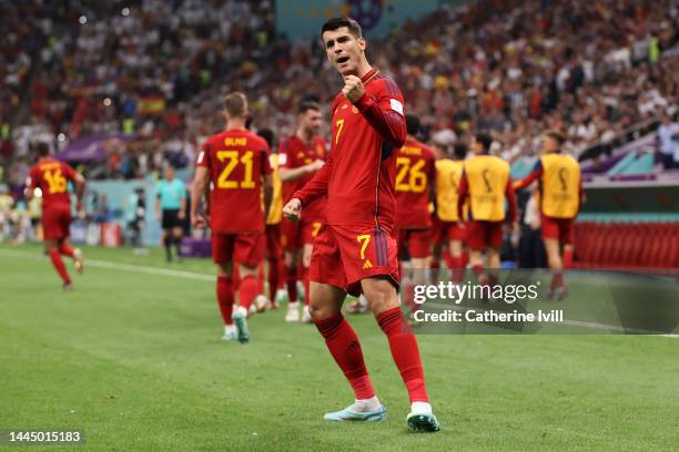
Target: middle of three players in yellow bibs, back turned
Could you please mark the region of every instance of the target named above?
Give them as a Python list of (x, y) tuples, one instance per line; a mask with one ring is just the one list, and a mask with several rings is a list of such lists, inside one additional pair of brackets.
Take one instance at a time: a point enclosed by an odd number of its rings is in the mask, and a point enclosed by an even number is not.
[(483, 251), (486, 251), (488, 268), (499, 268), (499, 248), (503, 245), (503, 225), (506, 219), (505, 199), (509, 204), (509, 220), (516, 219), (516, 198), (509, 179), (509, 164), (490, 155), (490, 135), (479, 133), (472, 138), (474, 157), (465, 162), (458, 187), (457, 215), (463, 217), (463, 206), (469, 197), (469, 222), (467, 222), (467, 246), (469, 261), (482, 282)]

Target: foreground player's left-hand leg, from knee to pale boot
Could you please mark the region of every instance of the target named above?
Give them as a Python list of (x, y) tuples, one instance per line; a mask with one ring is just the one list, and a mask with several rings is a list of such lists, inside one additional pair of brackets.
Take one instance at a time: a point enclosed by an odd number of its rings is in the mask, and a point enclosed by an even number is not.
[(311, 281), (310, 311), (335, 362), (354, 389), (355, 401), (344, 410), (326, 413), (326, 421), (382, 421), (386, 409), (379, 403), (363, 360), (363, 350), (352, 326), (342, 316), (346, 292), (327, 284)]

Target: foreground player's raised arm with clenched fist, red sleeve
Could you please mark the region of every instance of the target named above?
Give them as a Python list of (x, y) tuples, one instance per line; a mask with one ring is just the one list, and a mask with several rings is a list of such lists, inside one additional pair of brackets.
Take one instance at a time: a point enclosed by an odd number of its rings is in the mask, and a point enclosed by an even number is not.
[(358, 109), (384, 141), (394, 147), (403, 146), (406, 138), (406, 123), (403, 111), (403, 95), (389, 79), (381, 79), (382, 88), (375, 94), (366, 93), (363, 82), (356, 75), (344, 80), (344, 95)]

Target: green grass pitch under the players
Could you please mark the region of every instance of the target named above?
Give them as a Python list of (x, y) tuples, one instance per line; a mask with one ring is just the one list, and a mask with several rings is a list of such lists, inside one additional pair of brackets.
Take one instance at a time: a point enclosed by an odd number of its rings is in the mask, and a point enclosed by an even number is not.
[(69, 450), (648, 451), (679, 444), (677, 339), (420, 335), (443, 430), (413, 434), (407, 393), (382, 331), (372, 316), (347, 316), (388, 420), (327, 423), (323, 413), (344, 408), (353, 394), (315, 328), (286, 325), (278, 310), (251, 320), (251, 343), (221, 342), (209, 260), (168, 265), (161, 249), (134, 256), (87, 248), (91, 265), (73, 276), (75, 291), (62, 292), (40, 249), (0, 246), (0, 429), (82, 429), (87, 442)]

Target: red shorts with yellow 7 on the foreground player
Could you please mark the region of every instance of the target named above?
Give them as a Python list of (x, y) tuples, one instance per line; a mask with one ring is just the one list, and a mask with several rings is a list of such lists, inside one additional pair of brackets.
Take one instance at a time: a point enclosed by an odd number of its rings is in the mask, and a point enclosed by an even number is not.
[(308, 278), (348, 294), (361, 294), (361, 280), (389, 276), (398, 287), (396, 240), (375, 226), (323, 225), (314, 242)]

